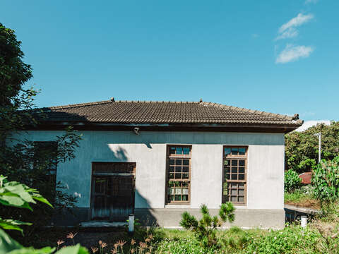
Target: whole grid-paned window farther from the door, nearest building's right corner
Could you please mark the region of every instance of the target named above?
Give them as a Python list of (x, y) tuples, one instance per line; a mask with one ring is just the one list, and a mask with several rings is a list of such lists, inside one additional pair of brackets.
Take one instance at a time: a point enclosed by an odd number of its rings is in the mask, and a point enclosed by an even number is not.
[(222, 202), (246, 204), (247, 147), (224, 148)]

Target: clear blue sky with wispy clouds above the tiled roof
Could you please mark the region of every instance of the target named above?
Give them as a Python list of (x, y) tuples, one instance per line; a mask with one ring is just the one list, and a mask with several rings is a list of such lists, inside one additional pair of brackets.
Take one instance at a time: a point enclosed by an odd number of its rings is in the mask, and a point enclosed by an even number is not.
[(339, 1), (1, 1), (38, 107), (218, 102), (339, 120)]

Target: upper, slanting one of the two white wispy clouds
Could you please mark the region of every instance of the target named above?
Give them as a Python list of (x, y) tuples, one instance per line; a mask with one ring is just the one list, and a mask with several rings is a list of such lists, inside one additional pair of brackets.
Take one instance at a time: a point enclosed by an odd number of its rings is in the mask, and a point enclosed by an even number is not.
[(312, 18), (314, 18), (313, 14), (304, 15), (299, 13), (297, 17), (292, 18), (279, 28), (278, 37), (276, 37), (275, 40), (297, 37), (297, 35), (299, 35), (297, 27), (309, 22)]

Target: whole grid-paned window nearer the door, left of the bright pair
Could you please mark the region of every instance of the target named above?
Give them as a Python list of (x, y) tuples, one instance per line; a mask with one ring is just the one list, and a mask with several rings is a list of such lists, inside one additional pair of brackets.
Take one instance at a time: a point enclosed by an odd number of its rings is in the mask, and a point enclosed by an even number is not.
[(191, 147), (167, 146), (167, 203), (190, 200)]

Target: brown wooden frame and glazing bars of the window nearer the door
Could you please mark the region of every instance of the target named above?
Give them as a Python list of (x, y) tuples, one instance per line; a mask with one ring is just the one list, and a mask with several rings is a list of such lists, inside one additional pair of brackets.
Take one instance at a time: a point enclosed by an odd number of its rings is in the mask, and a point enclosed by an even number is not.
[[(189, 155), (184, 155), (184, 152), (182, 155), (173, 155), (170, 154), (169, 151), (171, 147), (189, 147)], [(167, 145), (166, 149), (166, 183), (165, 183), (165, 203), (166, 205), (189, 205), (191, 202), (191, 155), (192, 155), (192, 146), (191, 145)], [(175, 179), (175, 169), (174, 169), (174, 179), (169, 179), (169, 159), (189, 159), (189, 177), (188, 179)], [(181, 174), (184, 172), (182, 171)], [(187, 200), (169, 200), (168, 198), (168, 183), (169, 181), (179, 181), (179, 182), (185, 182), (188, 183), (188, 198)], [(175, 190), (175, 187), (174, 187)], [(175, 191), (174, 191), (175, 192)], [(181, 194), (183, 195), (183, 194)], [(175, 196), (175, 193), (174, 193)]]

